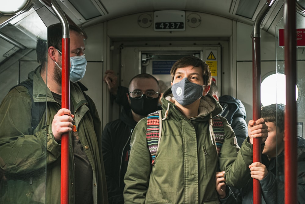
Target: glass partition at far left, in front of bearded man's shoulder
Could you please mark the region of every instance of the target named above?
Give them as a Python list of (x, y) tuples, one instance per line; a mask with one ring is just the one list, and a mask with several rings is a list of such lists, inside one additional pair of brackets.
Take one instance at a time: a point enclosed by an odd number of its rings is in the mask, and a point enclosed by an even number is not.
[[(36, 41), (39, 38), (46, 42), (47, 28), (33, 7), (9, 20), (3, 21), (2, 17), (0, 203), (46, 203), (50, 121), (46, 117), (47, 86), (40, 76)], [(46, 46), (41, 50), (46, 55)]]

